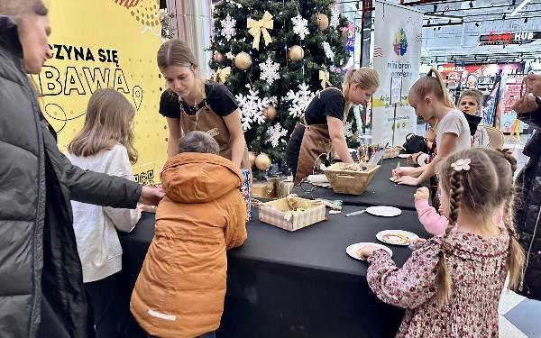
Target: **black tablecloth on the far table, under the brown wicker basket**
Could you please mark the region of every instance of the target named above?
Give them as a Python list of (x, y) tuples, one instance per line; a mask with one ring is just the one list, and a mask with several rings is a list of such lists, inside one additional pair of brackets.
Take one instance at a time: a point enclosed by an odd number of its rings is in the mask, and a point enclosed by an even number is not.
[[(396, 206), (400, 209), (415, 210), (413, 194), (417, 187), (398, 185), (389, 179), (392, 176), (392, 169), (397, 168), (399, 161), (401, 166), (406, 166), (406, 159), (383, 160), (380, 170), (362, 195), (335, 194), (331, 187), (315, 187), (316, 190), (311, 193), (301, 187), (295, 187), (292, 193), (307, 198), (341, 199), (344, 204), (352, 206)], [(423, 186), (428, 187), (429, 184), (426, 181)], [(303, 187), (308, 190), (311, 185), (304, 184)]]

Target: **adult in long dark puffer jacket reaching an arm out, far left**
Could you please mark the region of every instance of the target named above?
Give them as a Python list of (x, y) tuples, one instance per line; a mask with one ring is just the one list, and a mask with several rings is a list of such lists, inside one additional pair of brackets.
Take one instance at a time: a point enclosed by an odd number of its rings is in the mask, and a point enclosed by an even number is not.
[(84, 337), (70, 199), (156, 205), (161, 191), (85, 171), (60, 153), (27, 73), (51, 57), (41, 0), (0, 0), (0, 336)]

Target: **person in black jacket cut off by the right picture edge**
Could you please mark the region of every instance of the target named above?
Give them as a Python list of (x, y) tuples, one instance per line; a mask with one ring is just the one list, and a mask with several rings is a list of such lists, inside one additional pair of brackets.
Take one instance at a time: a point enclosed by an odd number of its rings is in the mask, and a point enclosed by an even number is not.
[(541, 75), (528, 75), (526, 87), (532, 95), (520, 98), (513, 105), (518, 119), (535, 129), (524, 148), (529, 160), (516, 182), (515, 224), (520, 243), (527, 252), (518, 293), (541, 300), (541, 100), (536, 97), (541, 96)]

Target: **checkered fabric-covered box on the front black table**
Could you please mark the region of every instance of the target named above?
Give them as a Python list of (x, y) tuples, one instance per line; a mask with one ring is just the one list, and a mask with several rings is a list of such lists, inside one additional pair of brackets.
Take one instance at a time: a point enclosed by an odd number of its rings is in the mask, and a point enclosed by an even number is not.
[[(299, 206), (308, 206), (305, 211), (289, 211), (289, 203), (294, 199)], [(260, 221), (284, 230), (294, 232), (311, 224), (325, 220), (325, 205), (299, 197), (280, 198), (260, 206)]]

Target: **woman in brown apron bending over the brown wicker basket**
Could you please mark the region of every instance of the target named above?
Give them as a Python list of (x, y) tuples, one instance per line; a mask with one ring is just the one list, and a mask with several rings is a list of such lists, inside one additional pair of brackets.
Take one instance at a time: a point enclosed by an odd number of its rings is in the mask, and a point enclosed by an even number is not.
[(295, 185), (312, 174), (322, 154), (334, 149), (345, 163), (353, 163), (344, 136), (344, 123), (351, 104), (366, 104), (380, 86), (374, 69), (350, 69), (342, 86), (321, 91), (295, 126), (286, 150)]

